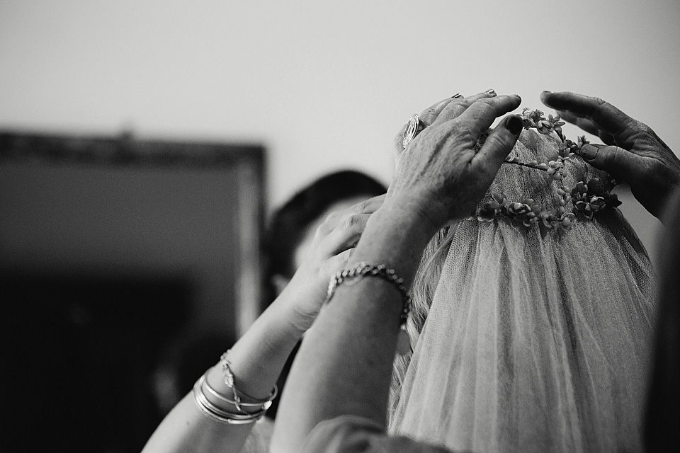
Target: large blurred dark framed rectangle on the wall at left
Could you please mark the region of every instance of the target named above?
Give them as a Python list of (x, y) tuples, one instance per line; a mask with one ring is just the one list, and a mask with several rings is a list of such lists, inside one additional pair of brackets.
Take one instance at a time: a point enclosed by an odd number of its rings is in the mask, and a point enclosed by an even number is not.
[(259, 314), (263, 172), (259, 145), (0, 132), (0, 452), (142, 449), (177, 338), (214, 363)]

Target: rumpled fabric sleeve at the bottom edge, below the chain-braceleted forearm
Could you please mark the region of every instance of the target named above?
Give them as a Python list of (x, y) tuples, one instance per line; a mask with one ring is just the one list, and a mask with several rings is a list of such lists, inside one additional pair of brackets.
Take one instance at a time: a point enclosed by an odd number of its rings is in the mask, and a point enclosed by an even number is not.
[(367, 418), (344, 415), (319, 423), (307, 436), (304, 453), (451, 453), (444, 447), (390, 436)]

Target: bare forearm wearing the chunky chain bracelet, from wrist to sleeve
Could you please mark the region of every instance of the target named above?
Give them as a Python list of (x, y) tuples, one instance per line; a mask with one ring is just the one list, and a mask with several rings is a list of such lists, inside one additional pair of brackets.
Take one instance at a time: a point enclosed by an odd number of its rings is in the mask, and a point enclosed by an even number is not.
[[(373, 214), (347, 268), (362, 261), (395, 269), (409, 287), (436, 228), (384, 205)], [(336, 415), (384, 424), (402, 299), (364, 277), (340, 285), (305, 336), (286, 385), (272, 451), (297, 452), (314, 425)]]

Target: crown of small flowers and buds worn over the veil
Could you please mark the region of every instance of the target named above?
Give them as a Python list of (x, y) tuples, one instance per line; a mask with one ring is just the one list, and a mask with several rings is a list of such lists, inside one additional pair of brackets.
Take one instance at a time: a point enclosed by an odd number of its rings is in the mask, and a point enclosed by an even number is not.
[(497, 217), (506, 217), (524, 226), (542, 224), (547, 229), (568, 230), (577, 219), (592, 220), (598, 212), (621, 205), (616, 194), (610, 192), (618, 183), (609, 176), (581, 180), (572, 188), (565, 187), (563, 180), (567, 176), (565, 161), (581, 154), (584, 144), (589, 143), (585, 136), (579, 137), (575, 143), (566, 139), (562, 134), (562, 125), (565, 125), (565, 122), (560, 120), (559, 115), (555, 117), (548, 115), (548, 118), (545, 118), (540, 110), (525, 108), (521, 116), (525, 130), (536, 129), (544, 135), (553, 132), (557, 134), (561, 140), (557, 158), (548, 163), (539, 163), (523, 162), (517, 157), (508, 156), (504, 164), (526, 167), (531, 171), (545, 171), (553, 181), (560, 184), (555, 191), (557, 206), (549, 209), (538, 205), (532, 198), (511, 201), (503, 193), (487, 193), (470, 219), (493, 222)]

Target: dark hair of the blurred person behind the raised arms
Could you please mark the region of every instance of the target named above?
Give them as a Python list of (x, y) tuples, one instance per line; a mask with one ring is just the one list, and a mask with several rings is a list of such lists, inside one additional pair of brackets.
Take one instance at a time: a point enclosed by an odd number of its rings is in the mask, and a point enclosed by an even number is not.
[[(293, 277), (295, 273), (295, 249), (310, 226), (329, 207), (336, 202), (365, 195), (375, 197), (387, 191), (385, 185), (365, 173), (353, 170), (337, 171), (315, 180), (307, 188), (300, 190), (288, 202), (280, 207), (273, 217), (266, 232), (265, 258), (266, 265), (266, 304), (276, 298), (276, 288), (272, 284), (274, 275)], [(288, 379), (290, 366), (300, 348), (297, 343), (288, 357), (278, 378), (279, 396), (272, 402), (267, 411), (268, 418), (276, 418), (280, 392)]]

